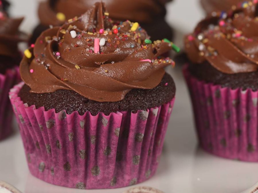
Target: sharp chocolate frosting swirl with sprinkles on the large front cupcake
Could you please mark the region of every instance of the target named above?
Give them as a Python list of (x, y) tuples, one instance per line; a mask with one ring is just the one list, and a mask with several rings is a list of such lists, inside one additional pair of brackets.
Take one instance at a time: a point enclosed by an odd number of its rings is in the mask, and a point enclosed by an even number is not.
[[(69, 89), (90, 100), (115, 102), (131, 89), (152, 89), (160, 83), (163, 68), (174, 64), (160, 57), (171, 44), (146, 44), (146, 31), (140, 26), (132, 29), (137, 23), (114, 23), (107, 15), (104, 4), (96, 3), (81, 17), (41, 34), (34, 57), (24, 57), (20, 65), (21, 78), (31, 92)], [(96, 38), (105, 39), (99, 53), (94, 53)]]

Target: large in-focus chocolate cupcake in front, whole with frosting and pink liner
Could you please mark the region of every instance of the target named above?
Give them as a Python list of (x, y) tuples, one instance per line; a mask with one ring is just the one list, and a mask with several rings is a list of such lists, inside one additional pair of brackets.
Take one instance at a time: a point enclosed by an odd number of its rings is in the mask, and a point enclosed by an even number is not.
[(155, 173), (175, 96), (161, 55), (139, 24), (103, 3), (44, 31), (10, 91), (32, 175), (80, 189), (119, 188)]

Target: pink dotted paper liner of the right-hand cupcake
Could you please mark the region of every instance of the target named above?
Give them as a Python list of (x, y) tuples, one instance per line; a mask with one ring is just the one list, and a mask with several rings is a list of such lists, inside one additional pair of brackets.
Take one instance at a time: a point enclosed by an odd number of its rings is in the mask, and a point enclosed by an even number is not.
[(258, 91), (231, 89), (183, 73), (189, 87), (201, 147), (211, 154), (258, 161)]

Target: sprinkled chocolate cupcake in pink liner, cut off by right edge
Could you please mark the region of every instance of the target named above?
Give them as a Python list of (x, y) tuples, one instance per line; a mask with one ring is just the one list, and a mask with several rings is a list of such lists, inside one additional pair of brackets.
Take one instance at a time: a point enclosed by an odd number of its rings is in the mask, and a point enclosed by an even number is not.
[(201, 147), (220, 157), (258, 161), (257, 3), (208, 17), (185, 38), (189, 87)]

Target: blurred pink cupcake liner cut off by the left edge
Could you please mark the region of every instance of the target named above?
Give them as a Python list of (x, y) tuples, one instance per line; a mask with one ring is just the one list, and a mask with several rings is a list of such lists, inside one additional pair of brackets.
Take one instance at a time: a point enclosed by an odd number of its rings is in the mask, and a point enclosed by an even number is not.
[(8, 93), (18, 81), (20, 81), (18, 67), (7, 69), (5, 74), (0, 74), (0, 140), (12, 132), (13, 110)]

